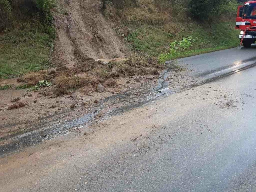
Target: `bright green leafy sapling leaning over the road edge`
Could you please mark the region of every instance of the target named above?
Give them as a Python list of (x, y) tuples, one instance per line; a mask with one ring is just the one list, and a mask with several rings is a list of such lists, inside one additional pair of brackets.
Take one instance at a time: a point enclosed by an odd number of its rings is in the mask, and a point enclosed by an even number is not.
[(192, 43), (196, 41), (195, 39), (192, 39), (192, 37), (184, 37), (181, 41), (177, 42), (177, 40), (175, 39), (173, 42), (171, 42), (169, 44), (169, 53), (162, 53), (159, 55), (158, 57), (158, 61), (160, 63), (164, 63), (166, 60), (168, 60), (169, 58), (175, 56), (175, 54), (178, 51), (185, 51), (188, 50), (191, 46)]

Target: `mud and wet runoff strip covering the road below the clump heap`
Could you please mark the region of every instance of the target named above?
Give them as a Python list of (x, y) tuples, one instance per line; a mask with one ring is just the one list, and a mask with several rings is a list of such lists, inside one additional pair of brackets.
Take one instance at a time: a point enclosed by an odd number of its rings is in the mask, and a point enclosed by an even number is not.
[[(136, 108), (199, 81), (199, 78), (193, 79), (186, 73), (185, 69), (168, 64), (159, 76), (120, 77), (114, 87), (105, 83), (102, 93), (74, 91), (56, 98), (50, 94), (54, 87), (34, 92), (0, 91), (3, 98), (0, 155), (76, 131), (80, 126), (88, 126)], [(25, 106), (7, 109), (7, 106), (17, 102), (23, 102)]]

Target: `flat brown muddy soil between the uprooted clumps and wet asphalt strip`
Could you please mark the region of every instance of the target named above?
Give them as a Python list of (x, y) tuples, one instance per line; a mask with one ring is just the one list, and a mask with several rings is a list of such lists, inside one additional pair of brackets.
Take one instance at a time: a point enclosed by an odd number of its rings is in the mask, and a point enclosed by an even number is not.
[[(152, 78), (153, 80), (147, 79)], [(7, 81), (8, 82), (8, 81)], [(5, 83), (7, 83), (5, 81)], [(12, 82), (12, 81), (11, 81)], [(22, 134), (33, 130), (33, 125), (53, 120), (67, 120), (94, 112), (104, 98), (121, 94), (127, 90), (153, 87), (158, 82), (157, 75), (119, 77), (102, 83), (105, 91), (81, 87), (75, 91), (58, 88), (57, 85), (27, 92), (26, 89), (0, 91), (0, 138)], [(5, 85), (0, 82), (0, 84)], [(19, 98), (19, 99), (17, 99)], [(126, 103), (131, 102), (127, 99)], [(25, 105), (19, 106), (19, 103)], [(14, 105), (16, 107), (14, 107)], [(118, 107), (113, 105), (114, 108)], [(9, 108), (9, 110), (8, 110)], [(32, 129), (31, 129), (32, 128)]]

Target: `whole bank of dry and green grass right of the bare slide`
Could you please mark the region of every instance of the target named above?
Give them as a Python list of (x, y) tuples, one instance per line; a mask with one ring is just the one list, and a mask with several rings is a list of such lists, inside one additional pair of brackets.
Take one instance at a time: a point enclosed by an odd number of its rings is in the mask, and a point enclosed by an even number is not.
[(107, 4), (104, 15), (120, 34), (125, 35), (130, 50), (143, 57), (158, 57), (169, 51), (171, 42), (175, 39), (180, 41), (183, 37), (192, 36), (197, 41), (189, 50), (177, 52), (168, 59), (235, 47), (239, 43), (239, 31), (234, 29), (238, 5), (235, 0), (218, 5), (215, 7), (217, 12), (211, 13), (205, 20), (191, 17), (188, 1), (121, 2), (122, 8), (115, 1)]

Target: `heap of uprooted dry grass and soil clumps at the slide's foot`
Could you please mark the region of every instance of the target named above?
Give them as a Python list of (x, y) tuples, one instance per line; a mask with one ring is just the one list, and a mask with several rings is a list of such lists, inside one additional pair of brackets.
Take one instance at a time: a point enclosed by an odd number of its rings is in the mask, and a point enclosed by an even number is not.
[[(85, 87), (87, 94), (93, 92), (98, 83), (104, 83), (107, 80), (115, 80), (119, 77), (134, 77), (145, 75), (159, 75), (159, 70), (164, 65), (159, 64), (152, 58), (143, 59), (133, 57), (123, 61), (112, 60), (104, 63), (99, 60), (87, 58), (83, 54), (78, 54), (79, 62), (74, 67), (58, 67), (56, 70), (41, 70), (39, 72), (30, 72), (17, 79), (17, 82), (23, 83), (24, 88), (35, 87), (38, 82), (52, 82), (58, 88), (78, 89)], [(107, 86), (112, 87), (113, 82)], [(20, 86), (21, 87), (21, 86)]]

